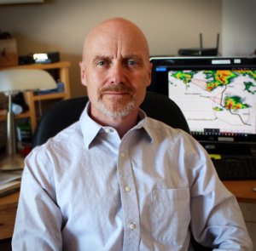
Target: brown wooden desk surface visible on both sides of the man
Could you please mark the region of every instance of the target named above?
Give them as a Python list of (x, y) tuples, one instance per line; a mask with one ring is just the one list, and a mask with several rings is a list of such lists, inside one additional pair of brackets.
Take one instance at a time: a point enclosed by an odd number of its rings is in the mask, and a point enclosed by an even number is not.
[[(256, 180), (224, 180), (224, 185), (235, 194), (240, 203), (255, 203)], [(0, 197), (0, 240), (12, 237), (15, 225), (16, 209), (20, 192)]]

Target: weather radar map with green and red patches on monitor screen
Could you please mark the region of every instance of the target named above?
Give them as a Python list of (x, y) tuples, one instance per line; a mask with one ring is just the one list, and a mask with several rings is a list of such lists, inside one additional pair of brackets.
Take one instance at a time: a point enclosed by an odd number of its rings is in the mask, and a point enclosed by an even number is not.
[(177, 70), (168, 72), (168, 82), (191, 131), (256, 134), (256, 71)]

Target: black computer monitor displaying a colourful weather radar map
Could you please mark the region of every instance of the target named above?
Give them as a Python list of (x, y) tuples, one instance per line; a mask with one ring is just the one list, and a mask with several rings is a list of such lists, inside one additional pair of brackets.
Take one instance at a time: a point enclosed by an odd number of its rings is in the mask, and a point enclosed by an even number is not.
[[(256, 145), (256, 58), (152, 57), (149, 91), (177, 103), (191, 134), (210, 153)], [(172, 116), (172, 114), (170, 114)]]

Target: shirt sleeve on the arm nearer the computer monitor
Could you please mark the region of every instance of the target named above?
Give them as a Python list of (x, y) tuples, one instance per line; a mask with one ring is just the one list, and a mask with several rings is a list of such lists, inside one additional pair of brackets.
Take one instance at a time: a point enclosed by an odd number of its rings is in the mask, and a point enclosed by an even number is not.
[(214, 250), (253, 250), (236, 197), (228, 191), (207, 154), (195, 168), (191, 186), (191, 231)]

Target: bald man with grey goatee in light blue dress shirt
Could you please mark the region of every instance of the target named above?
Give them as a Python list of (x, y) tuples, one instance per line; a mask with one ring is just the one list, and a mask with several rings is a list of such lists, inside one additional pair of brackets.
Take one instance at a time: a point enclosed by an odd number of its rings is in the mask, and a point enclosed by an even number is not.
[(252, 250), (241, 211), (189, 134), (139, 110), (148, 43), (128, 20), (90, 31), (89, 104), (26, 158), (13, 250)]

